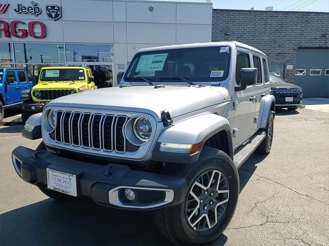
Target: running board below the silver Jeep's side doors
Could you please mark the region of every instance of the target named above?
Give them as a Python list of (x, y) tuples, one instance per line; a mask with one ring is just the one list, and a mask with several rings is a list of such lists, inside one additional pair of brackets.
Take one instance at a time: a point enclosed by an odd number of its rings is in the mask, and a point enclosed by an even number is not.
[(265, 131), (262, 131), (261, 133), (253, 137), (248, 144), (246, 144), (244, 147), (234, 153), (233, 160), (236, 168), (239, 168), (249, 158), (249, 156), (251, 156), (251, 154), (262, 143), (265, 137), (266, 133)]

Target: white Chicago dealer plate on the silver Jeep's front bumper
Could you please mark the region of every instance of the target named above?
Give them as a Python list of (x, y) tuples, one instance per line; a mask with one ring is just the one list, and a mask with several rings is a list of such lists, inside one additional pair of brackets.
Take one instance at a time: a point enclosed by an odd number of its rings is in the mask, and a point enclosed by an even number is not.
[(47, 168), (47, 187), (48, 189), (76, 197), (76, 175)]

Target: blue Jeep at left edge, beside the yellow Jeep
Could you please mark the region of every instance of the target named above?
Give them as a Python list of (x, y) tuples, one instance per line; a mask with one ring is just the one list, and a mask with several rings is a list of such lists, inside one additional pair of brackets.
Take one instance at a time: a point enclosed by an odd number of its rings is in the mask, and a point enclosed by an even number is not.
[(21, 98), (21, 92), (32, 87), (33, 82), (30, 82), (24, 69), (0, 67), (0, 123), (4, 119), (5, 109), (24, 102), (26, 99)]

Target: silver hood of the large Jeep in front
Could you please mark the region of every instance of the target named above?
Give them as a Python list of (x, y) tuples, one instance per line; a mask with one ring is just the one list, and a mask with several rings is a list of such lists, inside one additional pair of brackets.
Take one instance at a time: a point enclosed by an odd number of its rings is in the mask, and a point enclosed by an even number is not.
[(90, 90), (55, 99), (49, 105), (144, 111), (160, 119), (160, 112), (165, 109), (175, 118), (229, 100), (228, 90), (223, 87), (166, 85), (156, 89), (154, 86), (130, 86)]

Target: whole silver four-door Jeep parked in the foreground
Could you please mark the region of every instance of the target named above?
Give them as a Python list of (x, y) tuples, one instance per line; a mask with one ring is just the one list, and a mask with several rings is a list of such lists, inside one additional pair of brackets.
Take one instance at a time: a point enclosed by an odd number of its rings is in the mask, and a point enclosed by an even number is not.
[(262, 74), (267, 56), (239, 42), (141, 49), (120, 87), (31, 116), (22, 134), (42, 143), (15, 148), (13, 166), (53, 199), (155, 210), (169, 240), (209, 243), (234, 214), (237, 168), (271, 150), (275, 98)]

